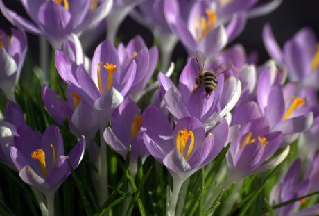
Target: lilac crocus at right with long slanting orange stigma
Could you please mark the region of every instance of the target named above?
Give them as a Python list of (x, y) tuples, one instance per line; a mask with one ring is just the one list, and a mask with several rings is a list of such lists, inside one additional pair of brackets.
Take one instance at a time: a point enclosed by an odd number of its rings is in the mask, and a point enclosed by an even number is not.
[(260, 74), (257, 83), (257, 103), (262, 115), (267, 117), (271, 131), (282, 131), (284, 144), (290, 144), (298, 133), (313, 123), (311, 99), (307, 92), (298, 92), (295, 83), (272, 85), (269, 71)]

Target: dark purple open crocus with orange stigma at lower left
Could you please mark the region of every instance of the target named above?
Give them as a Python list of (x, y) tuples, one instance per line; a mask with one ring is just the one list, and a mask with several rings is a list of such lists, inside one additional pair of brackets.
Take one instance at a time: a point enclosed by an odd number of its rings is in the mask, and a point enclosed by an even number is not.
[[(22, 180), (48, 195), (55, 192), (83, 158), (85, 139), (64, 155), (61, 133), (56, 126), (49, 126), (41, 136), (25, 124), (17, 127), (15, 144), (10, 156)], [(69, 161), (68, 161), (69, 160)]]

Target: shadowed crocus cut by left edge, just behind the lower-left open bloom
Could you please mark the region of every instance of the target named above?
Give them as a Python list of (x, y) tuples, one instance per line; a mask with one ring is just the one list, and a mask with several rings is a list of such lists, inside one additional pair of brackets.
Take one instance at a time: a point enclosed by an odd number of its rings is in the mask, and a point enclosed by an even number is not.
[(26, 124), (24, 113), (17, 104), (7, 101), (4, 119), (0, 121), (0, 162), (15, 169), (10, 158), (10, 147), (14, 144), (17, 126)]

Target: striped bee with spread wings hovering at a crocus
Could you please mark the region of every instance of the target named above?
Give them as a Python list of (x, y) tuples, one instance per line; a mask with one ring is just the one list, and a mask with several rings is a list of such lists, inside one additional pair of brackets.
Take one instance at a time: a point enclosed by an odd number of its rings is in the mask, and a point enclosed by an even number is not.
[(209, 70), (204, 70), (206, 56), (202, 51), (196, 51), (196, 61), (198, 64), (198, 77), (195, 78), (195, 86), (191, 93), (195, 92), (198, 89), (198, 86), (200, 83), (202, 83), (202, 86), (204, 87), (205, 92), (207, 93), (207, 100), (210, 97), (210, 94), (217, 88), (217, 78), (216, 76), (223, 74), (224, 72), (227, 72), (232, 68), (232, 65), (227, 63), (220, 63), (216, 69), (216, 71), (211, 72)]

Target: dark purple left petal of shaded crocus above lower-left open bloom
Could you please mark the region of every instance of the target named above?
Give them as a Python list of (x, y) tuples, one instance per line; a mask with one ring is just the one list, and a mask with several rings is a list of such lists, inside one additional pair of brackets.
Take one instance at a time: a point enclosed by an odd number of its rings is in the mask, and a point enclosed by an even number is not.
[(42, 101), (50, 115), (59, 124), (64, 125), (64, 118), (71, 119), (72, 110), (55, 92), (47, 85), (42, 88)]

